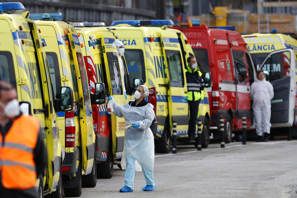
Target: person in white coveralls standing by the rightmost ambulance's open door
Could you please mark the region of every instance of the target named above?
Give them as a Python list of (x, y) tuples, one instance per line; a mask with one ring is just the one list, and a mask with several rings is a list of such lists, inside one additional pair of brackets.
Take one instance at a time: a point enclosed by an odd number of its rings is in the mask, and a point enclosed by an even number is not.
[[(266, 81), (265, 74), (262, 70), (257, 71), (257, 79), (251, 85), (251, 99), (253, 100), (253, 112), (256, 132), (258, 135), (257, 142), (268, 141), (270, 134), (270, 117), (271, 117), (271, 99), (274, 96), (273, 86)], [(264, 134), (264, 138), (263, 138)]]

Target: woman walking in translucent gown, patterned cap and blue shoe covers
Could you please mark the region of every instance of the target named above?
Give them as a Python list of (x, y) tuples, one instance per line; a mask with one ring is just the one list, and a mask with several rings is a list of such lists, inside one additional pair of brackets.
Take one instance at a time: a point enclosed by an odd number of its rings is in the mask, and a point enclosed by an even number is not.
[(135, 170), (143, 171), (146, 180), (143, 191), (152, 191), (156, 188), (153, 178), (154, 136), (149, 128), (155, 114), (153, 105), (145, 100), (147, 96), (149, 89), (146, 85), (140, 85), (134, 93), (135, 101), (119, 105), (112, 96), (108, 97), (108, 101), (113, 104), (114, 115), (124, 117), (126, 123), (124, 152), (121, 159), (121, 167), (123, 170), (126, 169), (125, 186), (120, 192), (133, 192)]

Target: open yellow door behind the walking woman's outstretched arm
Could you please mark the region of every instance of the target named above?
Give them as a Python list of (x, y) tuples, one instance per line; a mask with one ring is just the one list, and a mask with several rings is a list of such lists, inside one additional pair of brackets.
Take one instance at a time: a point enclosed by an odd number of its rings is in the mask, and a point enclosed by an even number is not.
[[(113, 95), (117, 104), (124, 104), (126, 102), (123, 85), (121, 80), (121, 72), (119, 65), (119, 57), (116, 50), (115, 40), (112, 38), (113, 34), (108, 31), (102, 31), (101, 44), (103, 51), (103, 58), (105, 63), (106, 77), (108, 81), (109, 94)], [(118, 118), (111, 114), (112, 120), (112, 142), (113, 152), (116, 158), (121, 158), (124, 151), (124, 133), (125, 121), (124, 118)]]

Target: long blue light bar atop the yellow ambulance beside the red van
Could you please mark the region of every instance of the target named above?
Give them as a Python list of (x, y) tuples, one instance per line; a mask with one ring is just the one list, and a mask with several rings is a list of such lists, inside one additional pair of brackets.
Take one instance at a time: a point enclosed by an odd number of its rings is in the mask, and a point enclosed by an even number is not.
[(161, 27), (168, 26), (173, 27), (174, 23), (172, 20), (116, 20), (111, 23), (111, 26), (116, 26), (119, 24), (128, 24), (131, 26), (152, 26)]

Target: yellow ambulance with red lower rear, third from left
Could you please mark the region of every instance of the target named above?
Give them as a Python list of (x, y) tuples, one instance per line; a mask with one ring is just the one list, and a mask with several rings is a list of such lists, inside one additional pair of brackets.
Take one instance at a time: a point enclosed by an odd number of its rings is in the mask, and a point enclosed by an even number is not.
[[(124, 68), (124, 85), (122, 85), (114, 33), (104, 27), (105, 23), (73, 23), (72, 25), (80, 34), (78, 39), (84, 46), (83, 57), (91, 93), (94, 94), (94, 85), (97, 82), (104, 83), (106, 90), (114, 96), (117, 104), (126, 103), (122, 86), (126, 88), (127, 100), (132, 98), (134, 90), (131, 87), (127, 67)], [(108, 114), (107, 104), (92, 105), (92, 109), (96, 134), (97, 177), (111, 178), (114, 161), (120, 160), (123, 156), (125, 121), (124, 118)]]

